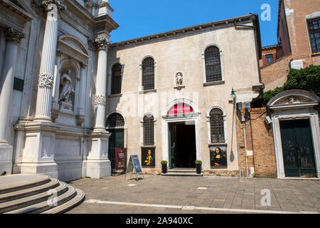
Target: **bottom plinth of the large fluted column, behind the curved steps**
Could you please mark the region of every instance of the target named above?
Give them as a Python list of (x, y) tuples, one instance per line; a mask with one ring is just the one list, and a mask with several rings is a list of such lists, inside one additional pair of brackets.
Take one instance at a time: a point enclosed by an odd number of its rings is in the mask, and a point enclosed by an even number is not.
[(14, 173), (22, 174), (42, 174), (53, 178), (58, 178), (58, 165), (50, 163), (16, 163)]

